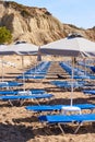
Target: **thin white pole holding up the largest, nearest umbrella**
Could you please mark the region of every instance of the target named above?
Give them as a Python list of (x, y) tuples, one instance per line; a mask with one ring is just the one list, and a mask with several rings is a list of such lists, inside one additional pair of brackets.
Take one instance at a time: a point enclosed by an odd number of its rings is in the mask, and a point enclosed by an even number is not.
[(74, 76), (74, 57), (72, 57), (72, 78), (71, 78), (71, 102), (70, 105), (73, 105), (73, 76)]

